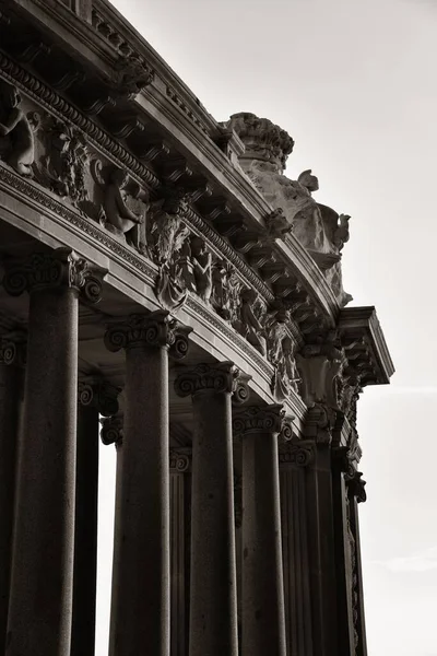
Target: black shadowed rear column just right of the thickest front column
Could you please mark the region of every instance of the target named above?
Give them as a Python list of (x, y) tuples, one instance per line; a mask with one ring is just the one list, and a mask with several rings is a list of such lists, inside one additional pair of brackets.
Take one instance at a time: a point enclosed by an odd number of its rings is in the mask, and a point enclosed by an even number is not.
[(98, 415), (118, 411), (118, 389), (79, 384), (71, 656), (93, 656), (97, 583)]

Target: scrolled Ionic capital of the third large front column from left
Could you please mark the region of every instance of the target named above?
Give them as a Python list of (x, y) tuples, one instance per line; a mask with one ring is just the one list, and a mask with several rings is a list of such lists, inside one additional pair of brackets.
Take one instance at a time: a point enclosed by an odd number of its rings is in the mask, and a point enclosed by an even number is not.
[(243, 374), (233, 362), (198, 364), (181, 372), (175, 380), (175, 391), (180, 397), (198, 394), (232, 394), (233, 402), (247, 401), (250, 376)]

